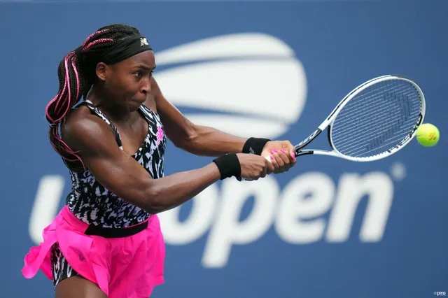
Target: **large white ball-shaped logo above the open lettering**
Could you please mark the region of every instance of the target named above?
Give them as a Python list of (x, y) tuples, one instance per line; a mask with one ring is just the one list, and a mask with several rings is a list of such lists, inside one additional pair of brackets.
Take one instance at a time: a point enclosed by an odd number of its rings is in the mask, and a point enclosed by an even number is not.
[(275, 138), (303, 111), (307, 80), (295, 52), (267, 34), (229, 34), (155, 54), (165, 97), (197, 125)]

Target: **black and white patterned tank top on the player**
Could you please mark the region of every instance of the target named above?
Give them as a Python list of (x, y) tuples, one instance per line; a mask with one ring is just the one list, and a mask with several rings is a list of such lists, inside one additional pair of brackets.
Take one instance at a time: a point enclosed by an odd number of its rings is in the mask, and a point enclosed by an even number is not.
[[(90, 101), (82, 101), (77, 106), (87, 106), (93, 115), (102, 118), (116, 135), (118, 147), (123, 150), (118, 129)], [(157, 113), (143, 104), (139, 112), (148, 122), (148, 134), (139, 150), (132, 156), (150, 175), (156, 179), (163, 177), (164, 155), (167, 141), (162, 122)], [(150, 214), (117, 197), (101, 185), (87, 170), (84, 172), (70, 171), (71, 192), (66, 198), (66, 205), (77, 218), (87, 224), (100, 227), (128, 227), (144, 222)]]

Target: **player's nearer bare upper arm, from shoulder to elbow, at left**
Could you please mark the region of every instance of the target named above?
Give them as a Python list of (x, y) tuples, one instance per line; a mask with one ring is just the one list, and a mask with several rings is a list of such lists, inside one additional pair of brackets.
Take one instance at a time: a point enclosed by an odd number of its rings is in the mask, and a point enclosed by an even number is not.
[(64, 141), (77, 152), (96, 180), (118, 197), (148, 209), (151, 175), (120, 150), (109, 125), (90, 113), (64, 125)]

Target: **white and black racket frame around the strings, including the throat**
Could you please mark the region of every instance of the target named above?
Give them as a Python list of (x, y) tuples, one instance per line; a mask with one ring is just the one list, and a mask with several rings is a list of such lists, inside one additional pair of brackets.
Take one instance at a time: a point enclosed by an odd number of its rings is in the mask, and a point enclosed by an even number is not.
[[(359, 92), (365, 90), (367, 87), (370, 87), (371, 85), (374, 85), (376, 83), (383, 82), (383, 81), (386, 81), (386, 80), (405, 80), (408, 83), (410, 83), (416, 89), (417, 92), (419, 92), (419, 96), (420, 96), (420, 113), (419, 113), (419, 118), (418, 118), (418, 120), (416, 122), (416, 125), (414, 126), (412, 131), (409, 132), (409, 134), (407, 134), (405, 139), (403, 139), (402, 141), (400, 141), (400, 143), (398, 143), (393, 148), (390, 148), (390, 149), (388, 149), (385, 152), (381, 152), (381, 153), (379, 153), (377, 155), (374, 155), (374, 156), (371, 156), (371, 157), (351, 157), (351, 156), (342, 154), (341, 152), (339, 152), (335, 148), (334, 143), (332, 141), (332, 136), (331, 136), (332, 124), (335, 122), (337, 115), (342, 110), (342, 108), (344, 108), (344, 106), (351, 99), (353, 99), (353, 97), (356, 97), (356, 95)], [(341, 157), (341, 158), (344, 158), (344, 159), (348, 159), (348, 160), (351, 160), (353, 162), (372, 162), (374, 160), (382, 159), (384, 157), (388, 157), (390, 155), (393, 155), (395, 152), (398, 152), (404, 146), (406, 146), (407, 143), (409, 143), (410, 141), (412, 141), (412, 139), (414, 139), (414, 136), (416, 134), (416, 129), (419, 127), (419, 125), (421, 125), (421, 123), (423, 123), (423, 120), (425, 118), (425, 113), (426, 113), (425, 96), (423, 94), (423, 91), (419, 87), (419, 85), (417, 85), (413, 80), (411, 80), (409, 78), (406, 78), (404, 76), (396, 76), (396, 75), (386, 75), (386, 76), (379, 76), (377, 78), (372, 78), (371, 80), (367, 80), (365, 83), (363, 83), (363, 84), (359, 85), (358, 87), (356, 87), (355, 89), (353, 89), (349, 94), (346, 94), (346, 96), (344, 97), (344, 99), (342, 99), (342, 101), (339, 101), (339, 104), (337, 104), (337, 106), (333, 109), (333, 111), (330, 113), (330, 115), (328, 115), (328, 118), (326, 118), (321, 123), (321, 125), (319, 125), (318, 128), (312, 134), (310, 134), (307, 137), (307, 139), (304, 139), (302, 142), (298, 143), (295, 146), (295, 156), (298, 157), (298, 156), (301, 156), (301, 155), (310, 155), (310, 154), (330, 155), (330, 156), (335, 156), (335, 157)], [(314, 150), (314, 149), (302, 150), (302, 148), (304, 148), (309, 143), (311, 143), (311, 141), (316, 139), (316, 137), (319, 134), (321, 134), (321, 132), (323, 132), (325, 129), (327, 129), (327, 131), (328, 131), (328, 143), (330, 144), (330, 147), (332, 148), (331, 151), (328, 151), (328, 150)]]

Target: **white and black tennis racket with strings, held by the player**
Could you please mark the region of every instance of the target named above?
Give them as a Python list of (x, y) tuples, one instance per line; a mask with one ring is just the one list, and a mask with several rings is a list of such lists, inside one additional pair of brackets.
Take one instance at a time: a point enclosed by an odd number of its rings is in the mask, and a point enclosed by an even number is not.
[[(318, 128), (295, 146), (295, 156), (330, 155), (371, 162), (407, 145), (425, 117), (419, 85), (402, 76), (380, 76), (359, 85)], [(331, 150), (304, 150), (325, 129)]]

